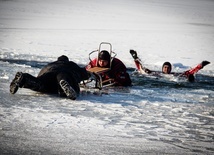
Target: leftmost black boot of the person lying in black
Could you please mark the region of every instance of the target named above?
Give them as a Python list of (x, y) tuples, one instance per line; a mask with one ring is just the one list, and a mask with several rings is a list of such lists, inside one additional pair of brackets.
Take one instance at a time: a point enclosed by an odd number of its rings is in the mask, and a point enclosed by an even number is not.
[(22, 87), (23, 84), (24, 84), (23, 74), (22, 72), (17, 72), (15, 78), (10, 83), (10, 93), (15, 94), (18, 91), (19, 87)]

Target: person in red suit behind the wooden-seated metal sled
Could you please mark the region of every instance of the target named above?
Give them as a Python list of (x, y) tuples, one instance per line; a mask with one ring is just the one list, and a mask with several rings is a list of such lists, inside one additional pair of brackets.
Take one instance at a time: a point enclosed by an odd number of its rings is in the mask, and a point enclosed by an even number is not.
[(86, 70), (93, 67), (110, 68), (109, 71), (101, 73), (102, 81), (113, 79), (115, 86), (131, 86), (132, 81), (127, 73), (126, 66), (117, 58), (113, 58), (111, 61), (111, 56), (108, 51), (102, 50), (98, 54), (98, 58), (89, 62), (86, 66)]

